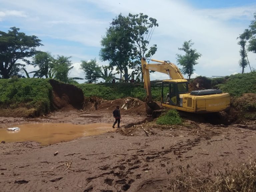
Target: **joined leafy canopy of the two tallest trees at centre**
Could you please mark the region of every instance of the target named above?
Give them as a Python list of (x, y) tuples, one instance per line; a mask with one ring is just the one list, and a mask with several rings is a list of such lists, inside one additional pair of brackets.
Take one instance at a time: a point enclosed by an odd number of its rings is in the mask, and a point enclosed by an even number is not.
[(120, 79), (124, 73), (128, 81), (128, 67), (134, 69), (133, 75), (141, 75), (141, 57), (150, 58), (156, 53), (157, 46), (148, 48), (157, 20), (143, 13), (131, 14), (127, 17), (119, 14), (113, 19), (111, 26), (102, 38), (100, 58), (109, 61), (110, 67), (116, 66)]

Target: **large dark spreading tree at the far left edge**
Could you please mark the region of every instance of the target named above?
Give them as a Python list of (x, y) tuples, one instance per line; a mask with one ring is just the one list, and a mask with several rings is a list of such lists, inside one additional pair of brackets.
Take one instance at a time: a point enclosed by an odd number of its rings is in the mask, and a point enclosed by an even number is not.
[(37, 53), (36, 47), (41, 46), (37, 36), (27, 36), (18, 32), (16, 27), (10, 28), (8, 33), (0, 31), (0, 76), (4, 79), (17, 75), (24, 65), (17, 63), (22, 60), (30, 63), (26, 58)]

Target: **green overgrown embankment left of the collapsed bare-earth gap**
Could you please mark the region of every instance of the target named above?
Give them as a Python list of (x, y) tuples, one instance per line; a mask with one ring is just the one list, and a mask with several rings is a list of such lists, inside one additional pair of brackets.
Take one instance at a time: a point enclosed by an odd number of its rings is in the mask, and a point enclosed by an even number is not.
[(35, 115), (51, 110), (52, 87), (47, 79), (0, 79), (0, 107), (35, 109)]

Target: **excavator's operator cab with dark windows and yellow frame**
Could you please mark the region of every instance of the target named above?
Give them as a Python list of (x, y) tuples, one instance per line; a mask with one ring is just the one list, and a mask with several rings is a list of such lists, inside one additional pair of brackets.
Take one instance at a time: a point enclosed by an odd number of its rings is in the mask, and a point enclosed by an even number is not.
[(182, 107), (180, 94), (188, 93), (186, 80), (164, 80), (162, 82), (161, 103)]

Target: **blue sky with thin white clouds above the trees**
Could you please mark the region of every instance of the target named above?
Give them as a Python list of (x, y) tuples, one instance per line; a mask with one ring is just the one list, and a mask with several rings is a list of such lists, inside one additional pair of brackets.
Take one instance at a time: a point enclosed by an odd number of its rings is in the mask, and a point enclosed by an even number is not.
[[(100, 66), (107, 65), (99, 60), (106, 28), (119, 13), (141, 12), (159, 23), (151, 39), (158, 47), (152, 58), (177, 63), (176, 54), (183, 54), (178, 48), (191, 39), (193, 48), (202, 54), (193, 77), (241, 73), (236, 38), (256, 12), (256, 2), (251, 0), (0, 0), (0, 5), (0, 30), (18, 27), (20, 32), (42, 40), (40, 50), (72, 56), (71, 77), (84, 77), (79, 70), (81, 60), (96, 58)], [(248, 58), (256, 68), (256, 54), (248, 53)], [(167, 78), (161, 73), (151, 75), (152, 80)]]

